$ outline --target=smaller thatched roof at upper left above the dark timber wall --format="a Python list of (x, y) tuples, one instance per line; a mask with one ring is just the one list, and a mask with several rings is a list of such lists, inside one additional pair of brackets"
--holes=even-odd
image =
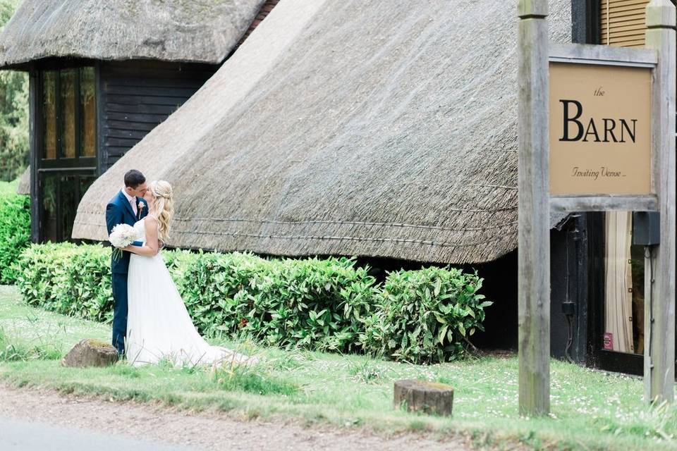
[(0, 68), (56, 57), (221, 63), (264, 0), (24, 0)]

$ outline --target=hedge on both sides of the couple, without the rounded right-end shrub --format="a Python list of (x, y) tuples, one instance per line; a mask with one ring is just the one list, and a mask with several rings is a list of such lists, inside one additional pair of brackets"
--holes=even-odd
[[(247, 333), (271, 345), (355, 350), (374, 279), (348, 259), (265, 260), (252, 254), (165, 251), (195, 326), (206, 335)], [(109, 322), (110, 249), (32, 245), (19, 259), (26, 302)]]

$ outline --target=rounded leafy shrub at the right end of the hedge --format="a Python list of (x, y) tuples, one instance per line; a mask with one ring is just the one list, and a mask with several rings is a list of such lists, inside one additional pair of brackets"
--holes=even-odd
[(466, 335), (482, 329), (482, 279), (458, 268), (389, 273), (365, 319), (368, 352), (413, 363), (444, 362), (463, 354)]

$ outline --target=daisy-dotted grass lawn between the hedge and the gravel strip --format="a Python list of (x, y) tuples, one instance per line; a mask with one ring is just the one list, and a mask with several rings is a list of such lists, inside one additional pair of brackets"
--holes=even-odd
[[(59, 357), (81, 338), (109, 340), (108, 326), (27, 307), (0, 286), (0, 381), (116, 400), (161, 402), (241, 418), (362, 427), (382, 433), (466, 433), (475, 445), (534, 449), (675, 450), (677, 408), (649, 408), (642, 381), (553, 360), (549, 418), (520, 418), (517, 357), (482, 357), (433, 366), (355, 355), (256, 349), (252, 369), (210, 371), (169, 366), (65, 369)], [(219, 343), (246, 348), (248, 343)], [(0, 354), (1, 355), (1, 354)], [(423, 378), (455, 388), (453, 418), (392, 408), (393, 381)]]

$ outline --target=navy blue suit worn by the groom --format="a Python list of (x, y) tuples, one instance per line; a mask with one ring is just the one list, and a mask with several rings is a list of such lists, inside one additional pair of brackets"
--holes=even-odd
[[(143, 208), (138, 208), (141, 202)], [(106, 205), (106, 228), (108, 234), (118, 224), (128, 224), (133, 226), (136, 221), (139, 221), (148, 214), (148, 205), (142, 197), (137, 197), (135, 200), (137, 204), (138, 214), (134, 214), (131, 204), (123, 194), (122, 190), (110, 200)], [(136, 242), (136, 245), (140, 243)], [(125, 352), (125, 337), (127, 335), (127, 271), (129, 268), (130, 252), (123, 251), (122, 257), (119, 260), (114, 260), (111, 257), (111, 273), (113, 285), (113, 346), (117, 348), (119, 354)]]

